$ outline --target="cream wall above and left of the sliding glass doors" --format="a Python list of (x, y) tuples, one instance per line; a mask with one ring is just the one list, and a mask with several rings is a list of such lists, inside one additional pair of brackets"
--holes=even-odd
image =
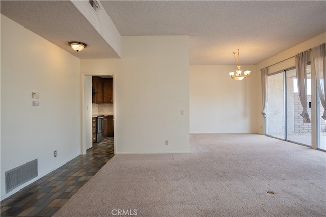
[[(261, 94), (261, 73), (260, 69), (276, 64), (280, 61), (288, 60), (280, 62), (274, 66), (268, 67), (267, 71), (268, 74), (278, 72), (284, 69), (288, 69), (291, 67), (295, 67), (295, 58), (293, 56), (297, 55), (297, 53), (301, 53), (305, 50), (308, 50), (310, 48), (313, 48), (315, 46), (318, 46), (322, 43), (326, 42), (326, 33), (322, 33), (318, 36), (315, 36), (312, 39), (309, 39), (303, 43), (300, 43), (298, 45), (295, 45), (294, 47), (291, 47), (290, 49), (284, 50), (283, 52), (278, 53), (278, 55), (275, 55), (273, 57), (270, 57), (256, 65), (256, 71), (257, 71), (257, 85), (256, 85), (256, 91), (258, 93), (257, 95), (257, 133), (264, 134), (265, 133), (265, 119), (264, 117), (260, 114), (262, 110), (262, 94)], [(310, 55), (308, 55), (310, 57)], [(291, 58), (293, 57), (293, 58)], [(308, 59), (309, 59), (308, 57)], [(314, 78), (314, 77), (313, 77)], [(314, 83), (314, 82), (312, 82)], [(314, 103), (312, 103), (314, 104)], [(268, 115), (268, 114), (267, 114)]]

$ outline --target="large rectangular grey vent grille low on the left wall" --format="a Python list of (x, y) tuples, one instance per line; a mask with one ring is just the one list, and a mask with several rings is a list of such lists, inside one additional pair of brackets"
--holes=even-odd
[(37, 159), (5, 172), (6, 193), (37, 177)]

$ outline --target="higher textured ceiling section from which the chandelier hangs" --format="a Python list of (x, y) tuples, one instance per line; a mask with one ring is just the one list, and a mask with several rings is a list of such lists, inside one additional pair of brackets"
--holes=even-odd
[(256, 64), (326, 32), (325, 1), (101, 1), (122, 36), (189, 35), (192, 65)]

